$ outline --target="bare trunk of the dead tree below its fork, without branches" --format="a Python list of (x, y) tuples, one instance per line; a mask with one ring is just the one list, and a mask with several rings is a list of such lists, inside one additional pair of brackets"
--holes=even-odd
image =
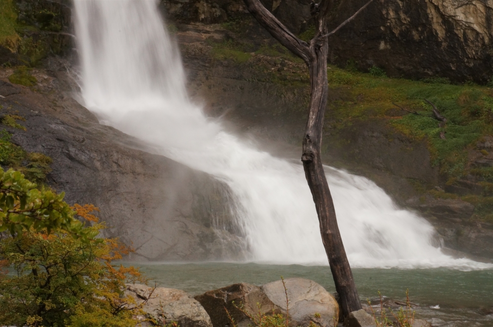
[(313, 201), (317, 209), (320, 234), (322, 236), (325, 253), (329, 260), (330, 270), (334, 278), (339, 302), (343, 315), (361, 309), (351, 267), (344, 249), (336, 212), (329, 185), (323, 171), (320, 148), (322, 143), (322, 129), (325, 107), (327, 105), (327, 37), (323, 37), (315, 46), (314, 56), (310, 60), (310, 84), (312, 96), (310, 111), (303, 138), (303, 167), (305, 176), (312, 191)]

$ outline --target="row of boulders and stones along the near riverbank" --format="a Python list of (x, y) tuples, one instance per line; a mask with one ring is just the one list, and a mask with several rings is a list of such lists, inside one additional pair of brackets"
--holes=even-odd
[[(260, 319), (271, 319), (270, 326), (284, 326), (286, 316), (293, 327), (373, 327), (373, 313), (380, 315), (380, 303), (340, 316), (336, 298), (314, 281), (289, 278), (255, 286), (246, 283), (226, 286), (192, 297), (180, 290), (127, 285), (127, 294), (142, 305), (150, 319), (140, 326), (164, 326), (176, 322), (180, 327), (258, 326)], [(406, 307), (406, 303), (387, 300), (385, 308)], [(415, 304), (412, 304), (416, 306)], [(234, 324), (234, 325), (233, 325)], [(431, 327), (425, 320), (412, 319), (412, 327)]]

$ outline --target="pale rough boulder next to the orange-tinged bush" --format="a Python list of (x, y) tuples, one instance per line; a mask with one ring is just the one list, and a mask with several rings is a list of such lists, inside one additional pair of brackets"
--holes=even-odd
[(132, 295), (137, 303), (142, 303), (150, 295), (142, 310), (161, 325), (176, 321), (180, 327), (212, 327), (206, 310), (191, 295), (164, 287), (157, 287), (152, 294), (151, 291), (152, 288), (145, 285), (127, 284), (126, 293)]

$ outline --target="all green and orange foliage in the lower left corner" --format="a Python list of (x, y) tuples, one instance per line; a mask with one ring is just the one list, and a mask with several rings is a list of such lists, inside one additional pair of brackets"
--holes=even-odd
[[(131, 249), (95, 237), (105, 228), (91, 214), (97, 208), (70, 207), (63, 194), (38, 190), (13, 170), (0, 172), (0, 192), (0, 230), (11, 230), (0, 237), (2, 324), (137, 325), (141, 305), (125, 294), (125, 283), (146, 280), (134, 267), (112, 264)], [(75, 217), (92, 226), (82, 227)]]

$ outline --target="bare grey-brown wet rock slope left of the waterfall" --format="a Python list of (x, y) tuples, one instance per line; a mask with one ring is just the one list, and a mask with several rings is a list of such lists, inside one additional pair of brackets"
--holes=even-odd
[(98, 216), (108, 226), (105, 236), (133, 244), (133, 259), (242, 258), (245, 240), (234, 224), (224, 183), (147, 153), (138, 140), (99, 125), (70, 98), (65, 73), (33, 70), (38, 93), (8, 83), (11, 73), (0, 69), (2, 113), (26, 118), (27, 130), (0, 129), (11, 132), (12, 141), (26, 151), (51, 157), (47, 183), (65, 192), (70, 204), (99, 207)]

